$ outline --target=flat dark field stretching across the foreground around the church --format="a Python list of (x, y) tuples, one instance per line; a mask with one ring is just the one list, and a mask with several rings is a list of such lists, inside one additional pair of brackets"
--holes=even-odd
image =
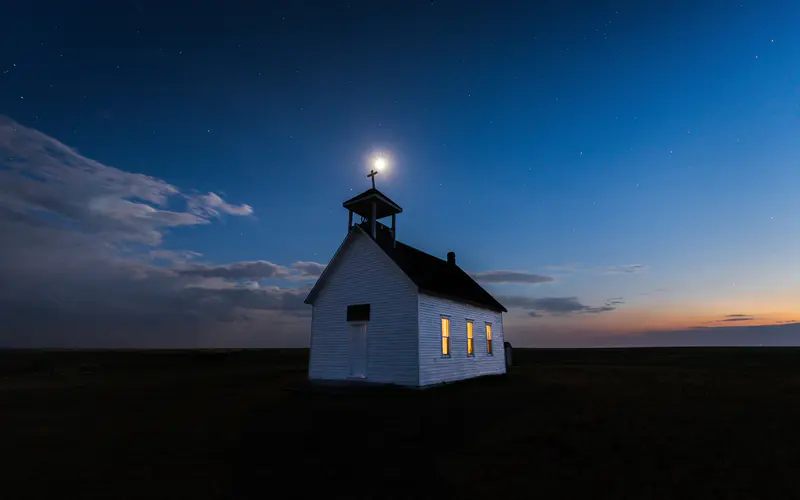
[(800, 349), (517, 349), (425, 391), (306, 357), (0, 351), (0, 496), (800, 496)]

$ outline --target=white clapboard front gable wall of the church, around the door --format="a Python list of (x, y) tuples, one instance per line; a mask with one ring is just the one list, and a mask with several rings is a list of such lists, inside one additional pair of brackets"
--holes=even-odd
[(369, 236), (352, 236), (313, 304), (309, 378), (347, 379), (347, 306), (370, 304), (367, 380), (417, 385), (416, 286)]

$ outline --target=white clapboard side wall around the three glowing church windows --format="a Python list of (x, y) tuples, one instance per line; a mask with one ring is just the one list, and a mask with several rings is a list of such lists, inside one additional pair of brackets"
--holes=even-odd
[[(442, 357), (442, 315), (450, 317), (450, 357)], [(467, 356), (467, 319), (473, 321), (474, 356)], [(486, 348), (487, 322), (492, 324), (492, 356)], [(505, 372), (501, 313), (419, 295), (419, 385)]]

